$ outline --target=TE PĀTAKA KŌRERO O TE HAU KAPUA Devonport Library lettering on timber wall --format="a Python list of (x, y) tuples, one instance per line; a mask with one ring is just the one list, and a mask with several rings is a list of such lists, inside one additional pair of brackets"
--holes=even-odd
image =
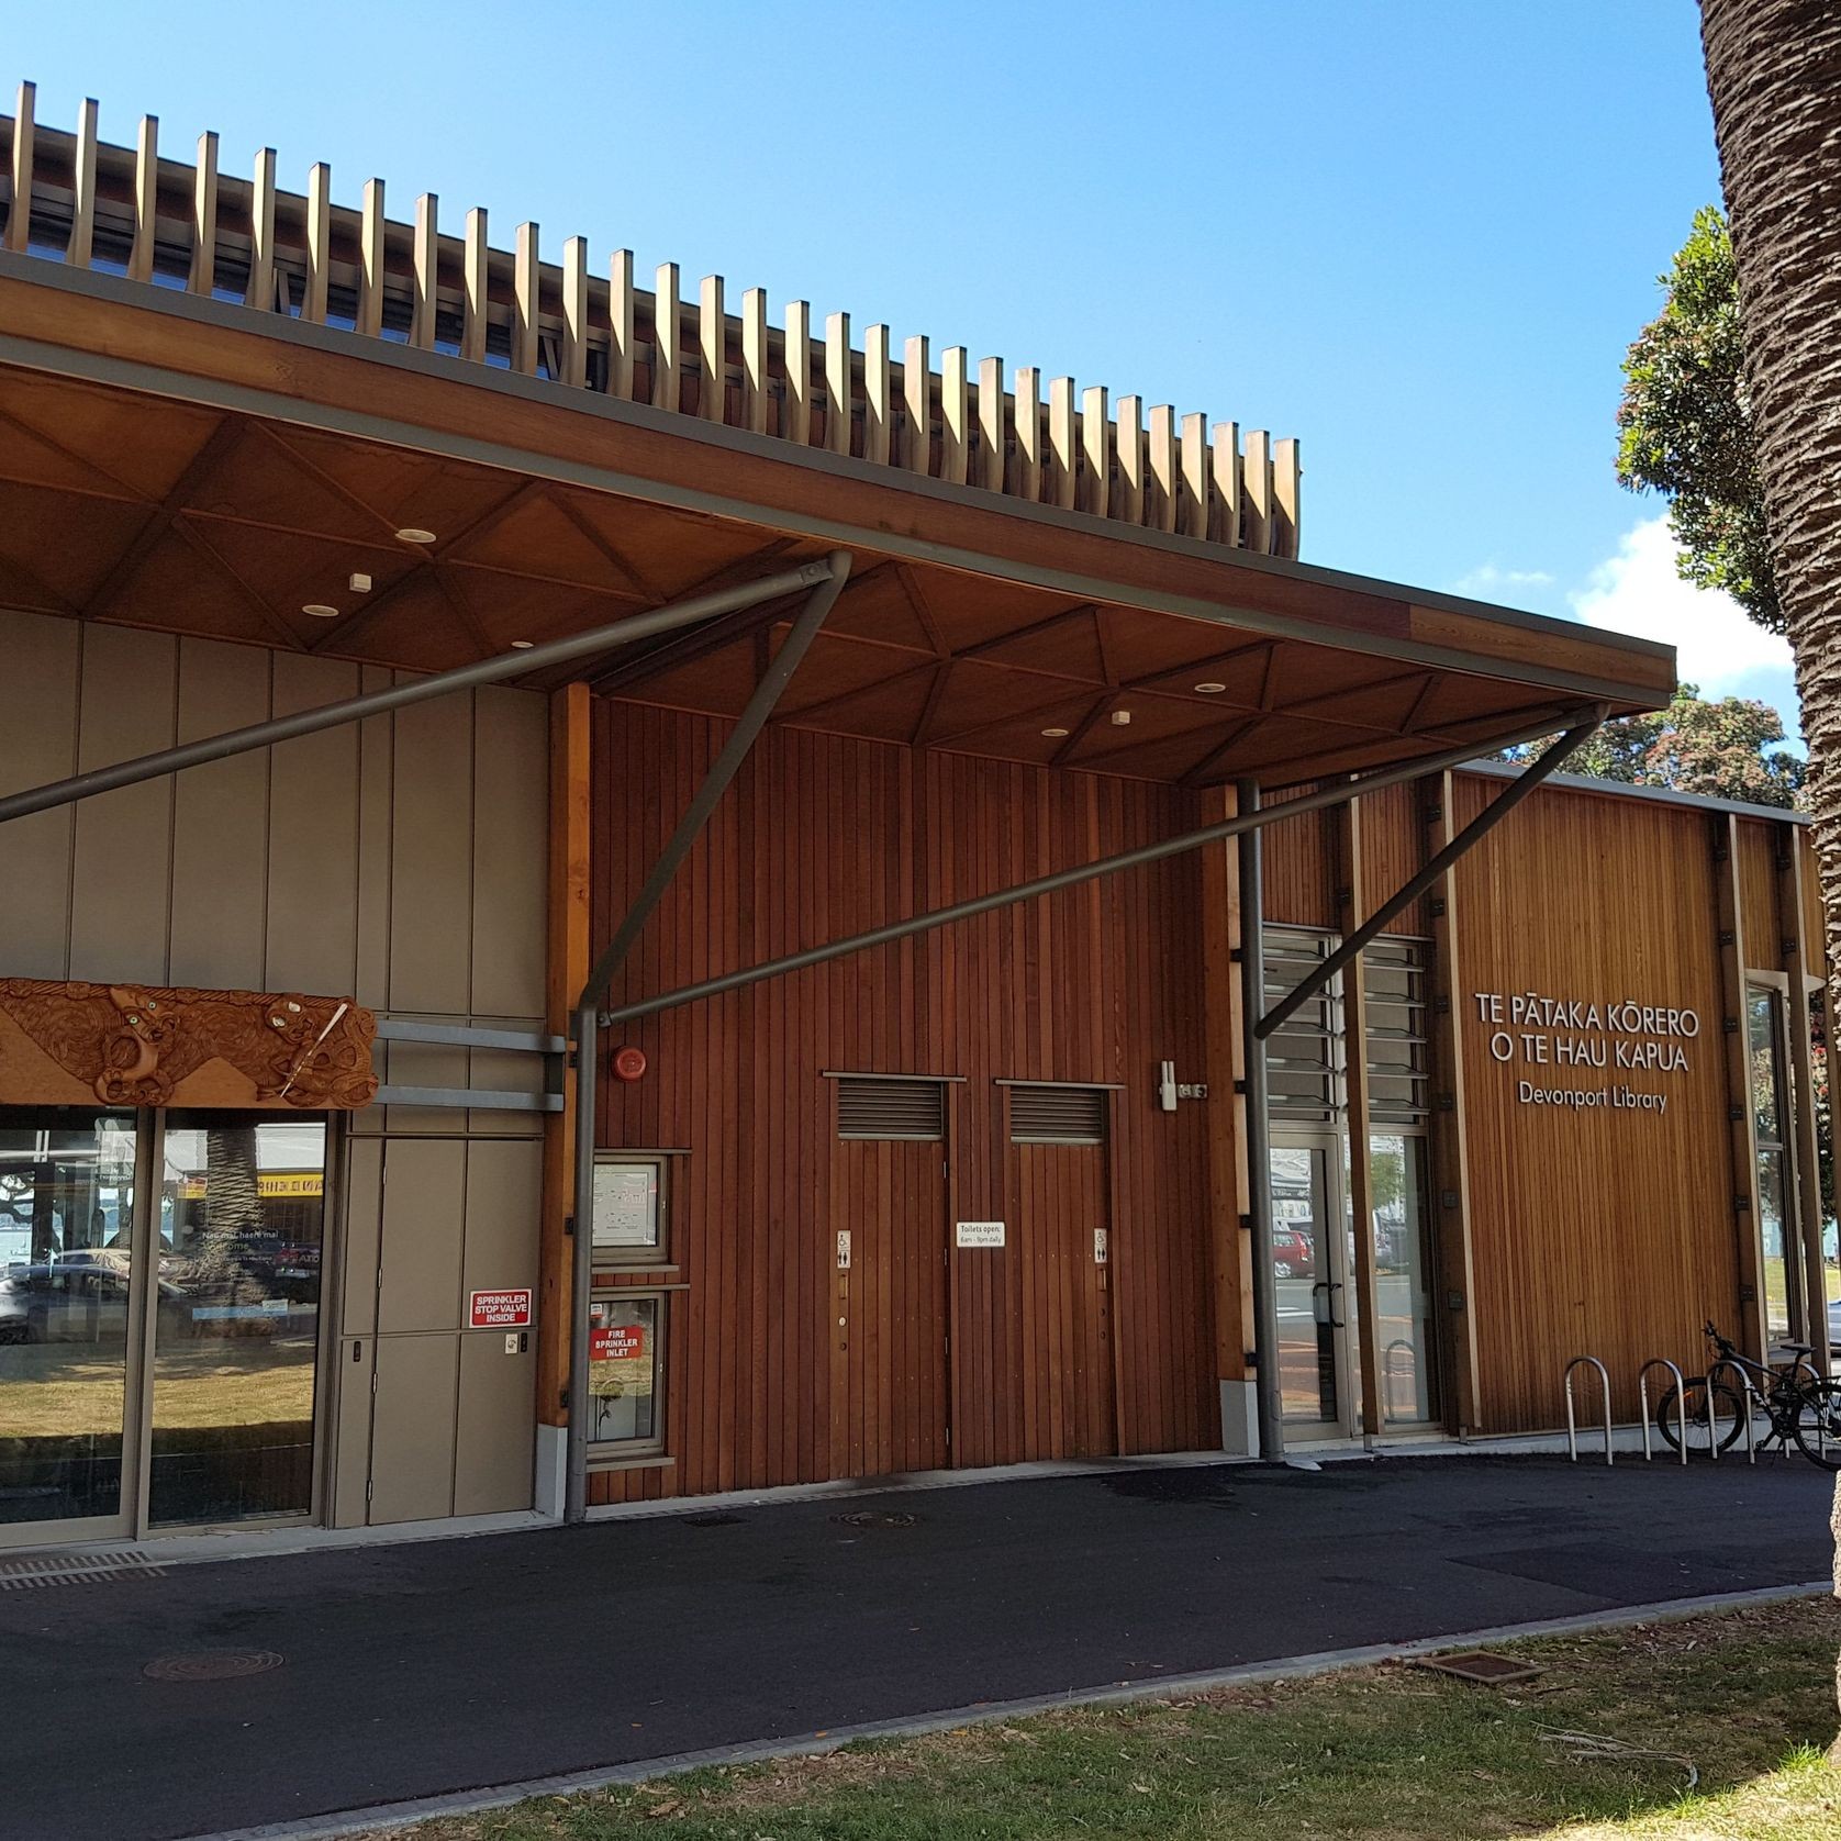
[[(1670, 1095), (1620, 1079), (1692, 1073), (1697, 1011), (1615, 998), (1550, 998), (1539, 990), (1476, 990), (1473, 1024), (1488, 1031), (1489, 1059), (1526, 1070), (1515, 1081), (1524, 1106), (1589, 1112), (1666, 1112)], [(1596, 1079), (1596, 1075), (1611, 1079)]]

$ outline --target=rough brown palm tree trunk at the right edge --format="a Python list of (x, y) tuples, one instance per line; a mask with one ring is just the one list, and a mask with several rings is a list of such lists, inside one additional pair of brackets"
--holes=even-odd
[[(1701, 48), (1841, 998), (1841, 7), (1701, 0)], [(1832, 1528), (1841, 1596), (1841, 1478)], [(1830, 1758), (1841, 1764), (1841, 1738)]]

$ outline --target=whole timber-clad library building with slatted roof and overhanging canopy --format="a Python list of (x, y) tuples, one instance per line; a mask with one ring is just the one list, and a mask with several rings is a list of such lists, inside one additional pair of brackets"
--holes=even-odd
[(1473, 764), (1668, 648), (1300, 562), (1233, 423), (0, 166), (0, 1543), (1826, 1360), (1806, 828)]

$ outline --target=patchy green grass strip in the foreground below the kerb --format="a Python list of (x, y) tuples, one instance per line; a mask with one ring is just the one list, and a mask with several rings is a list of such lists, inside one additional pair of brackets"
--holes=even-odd
[(1510, 1688), (1351, 1670), (541, 1797), (390, 1834), (1835, 1841), (1841, 1771), (1823, 1749), (1835, 1732), (1837, 1644), (1841, 1605), (1802, 1600), (1519, 1644), (1541, 1675)]

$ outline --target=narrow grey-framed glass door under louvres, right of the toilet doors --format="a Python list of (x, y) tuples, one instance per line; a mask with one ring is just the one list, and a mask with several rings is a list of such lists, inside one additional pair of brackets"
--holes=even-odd
[(1353, 1438), (1353, 1303), (1342, 1141), (1274, 1134), (1272, 1291), (1287, 1438)]

